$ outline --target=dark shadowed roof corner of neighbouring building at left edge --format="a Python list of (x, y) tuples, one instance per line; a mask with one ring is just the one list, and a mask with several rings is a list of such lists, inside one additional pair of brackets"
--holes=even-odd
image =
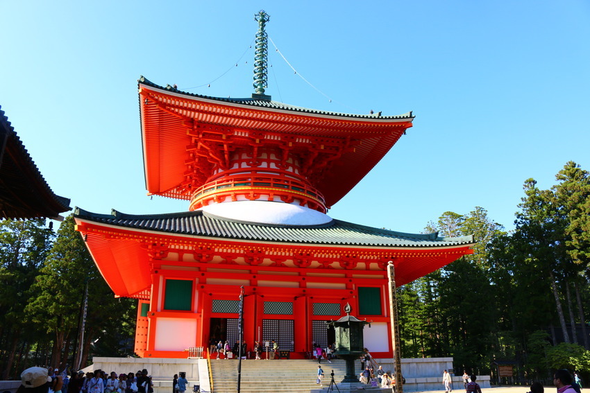
[(69, 199), (51, 191), (0, 107), (0, 211), (3, 218), (63, 220)]

